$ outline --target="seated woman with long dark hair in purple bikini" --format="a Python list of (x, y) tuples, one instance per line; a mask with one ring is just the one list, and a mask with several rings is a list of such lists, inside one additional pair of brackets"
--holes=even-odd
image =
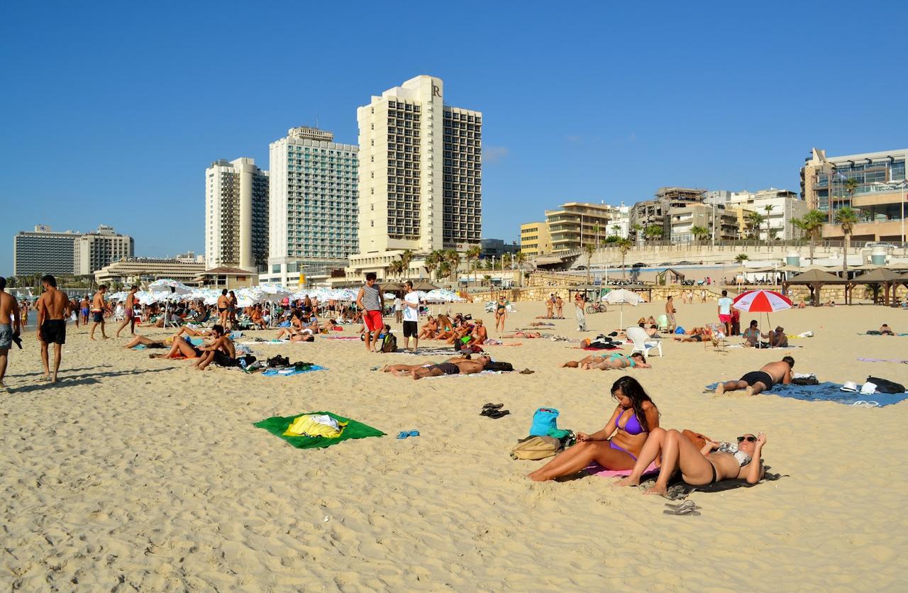
[(529, 474), (545, 481), (569, 476), (593, 461), (605, 469), (633, 469), (651, 430), (659, 427), (659, 410), (633, 377), (621, 377), (612, 385), (618, 405), (606, 428), (593, 434), (577, 433), (577, 444)]

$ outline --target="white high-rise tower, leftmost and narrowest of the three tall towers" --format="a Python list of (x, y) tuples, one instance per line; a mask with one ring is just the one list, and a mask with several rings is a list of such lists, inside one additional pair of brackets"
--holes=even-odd
[(205, 169), (205, 263), (264, 270), (268, 261), (268, 172), (250, 158)]

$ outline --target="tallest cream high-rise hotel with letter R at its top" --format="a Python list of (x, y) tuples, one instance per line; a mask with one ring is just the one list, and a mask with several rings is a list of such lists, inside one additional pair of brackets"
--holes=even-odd
[(478, 244), (482, 114), (444, 104), (441, 79), (419, 75), (373, 96), (357, 120), (360, 252), (350, 258), (349, 274), (382, 277), (404, 250)]

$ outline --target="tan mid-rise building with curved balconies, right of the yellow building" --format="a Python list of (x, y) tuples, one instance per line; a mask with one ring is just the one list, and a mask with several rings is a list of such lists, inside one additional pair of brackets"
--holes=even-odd
[(549, 242), (553, 253), (569, 252), (584, 245), (599, 245), (611, 233), (617, 218), (615, 206), (606, 203), (568, 202), (546, 211)]

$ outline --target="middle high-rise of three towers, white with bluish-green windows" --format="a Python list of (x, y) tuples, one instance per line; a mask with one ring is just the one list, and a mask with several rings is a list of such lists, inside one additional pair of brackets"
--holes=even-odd
[(260, 281), (309, 283), (357, 252), (358, 152), (310, 127), (291, 128), (270, 144), (269, 258)]

